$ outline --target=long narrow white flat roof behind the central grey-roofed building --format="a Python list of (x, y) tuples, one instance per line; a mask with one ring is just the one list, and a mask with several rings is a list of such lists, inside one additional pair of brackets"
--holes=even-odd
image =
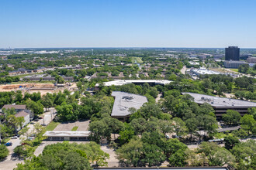
[[(106, 87), (110, 87), (112, 85), (122, 86), (128, 83), (155, 83), (155, 84), (165, 85), (165, 84), (171, 83), (171, 81), (170, 80), (113, 80), (113, 81), (104, 82), (103, 85)], [(99, 83), (95, 85), (95, 87), (98, 87), (98, 86), (99, 86)]]

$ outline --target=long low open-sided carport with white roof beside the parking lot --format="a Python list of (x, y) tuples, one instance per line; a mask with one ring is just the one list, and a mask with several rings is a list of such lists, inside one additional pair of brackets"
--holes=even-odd
[(43, 136), (49, 141), (88, 141), (91, 131), (47, 131)]

